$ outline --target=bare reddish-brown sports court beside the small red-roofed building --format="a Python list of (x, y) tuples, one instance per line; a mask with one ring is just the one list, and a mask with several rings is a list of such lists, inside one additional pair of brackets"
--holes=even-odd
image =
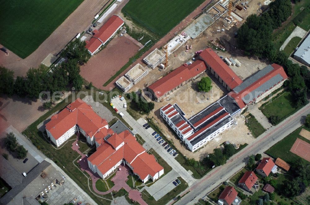
[(104, 49), (81, 66), (80, 74), (96, 88), (104, 89), (103, 84), (115, 75), (138, 50), (139, 46), (131, 39), (116, 36)]

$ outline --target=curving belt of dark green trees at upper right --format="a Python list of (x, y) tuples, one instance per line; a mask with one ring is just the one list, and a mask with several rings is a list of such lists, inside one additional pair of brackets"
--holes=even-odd
[[(291, 15), (290, 0), (275, 0), (269, 10), (261, 16), (250, 15), (238, 30), (238, 48), (246, 55), (268, 58), (285, 69), (290, 77), (286, 86), (294, 95), (296, 107), (308, 103), (307, 91), (310, 91), (310, 71), (288, 59), (283, 51), (278, 51), (272, 43), (272, 32)], [(277, 119), (272, 119), (277, 122)]]

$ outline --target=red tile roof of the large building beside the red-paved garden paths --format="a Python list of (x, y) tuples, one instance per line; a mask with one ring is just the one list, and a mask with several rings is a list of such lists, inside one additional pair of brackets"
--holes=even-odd
[[(112, 136), (117, 136), (124, 142), (124, 145), (115, 150), (108, 142)], [(136, 141), (135, 137), (128, 131), (124, 131), (118, 135), (112, 135), (108, 142), (103, 142), (90, 157), (87, 158), (91, 164), (96, 165), (102, 174), (105, 174), (113, 166), (122, 159), (125, 159), (133, 167), (133, 171), (145, 179), (148, 175), (154, 176), (157, 172), (163, 170), (163, 167), (158, 164), (153, 155), (145, 152), (145, 149)], [(118, 139), (117, 139), (118, 141)], [(111, 140), (112, 143), (115, 140)], [(115, 146), (117, 146), (117, 144)], [(121, 143), (122, 143), (121, 142)]]

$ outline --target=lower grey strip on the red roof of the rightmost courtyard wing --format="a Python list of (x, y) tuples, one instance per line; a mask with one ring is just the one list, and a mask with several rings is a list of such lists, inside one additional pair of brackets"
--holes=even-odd
[(266, 90), (270, 89), (273, 85), (279, 83), (281, 80), (283, 80), (282, 75), (277, 74), (276, 76), (272, 77), (265, 83), (263, 83), (261, 86), (259, 86), (257, 89), (253, 90), (252, 92), (245, 95), (242, 100), (246, 104), (251, 102), (253, 99), (257, 98), (260, 94), (264, 93)]

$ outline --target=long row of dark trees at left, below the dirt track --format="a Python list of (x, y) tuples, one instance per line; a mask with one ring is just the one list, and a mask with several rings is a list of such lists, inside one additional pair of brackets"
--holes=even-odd
[(80, 90), (83, 78), (80, 73), (80, 66), (86, 63), (91, 57), (85, 48), (85, 42), (80, 40), (69, 43), (62, 57), (67, 58), (66, 62), (61, 63), (47, 72), (46, 66), (30, 68), (26, 77), (17, 76), (14, 82), (14, 72), (5, 67), (0, 67), (0, 92), (8, 96), (16, 94), (20, 97), (38, 99), (42, 91), (64, 91), (69, 87)]

